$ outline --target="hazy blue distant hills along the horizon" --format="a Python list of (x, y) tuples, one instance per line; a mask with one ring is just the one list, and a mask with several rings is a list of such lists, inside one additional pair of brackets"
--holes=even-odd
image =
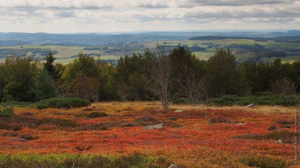
[[(24, 43), (37, 44), (56, 44), (56, 45), (80, 45), (80, 46), (100, 46), (108, 43), (119, 42), (147, 42), (156, 40), (185, 40), (185, 39), (227, 39), (234, 37), (236, 39), (264, 39), (265, 37), (275, 38), (284, 36), (300, 36), (300, 30), (290, 30), (287, 32), (268, 32), (259, 33), (251, 31), (233, 31), (233, 32), (201, 32), (201, 31), (153, 31), (143, 33), (125, 33), (125, 34), (100, 34), (100, 33), (82, 33), (82, 34), (52, 34), (52, 33), (1, 33), (0, 40), (7, 40), (0, 45), (18, 45)], [(250, 38), (251, 37), (251, 38)], [(14, 41), (11, 41), (14, 40)], [(9, 42), (10, 41), (10, 42)]]

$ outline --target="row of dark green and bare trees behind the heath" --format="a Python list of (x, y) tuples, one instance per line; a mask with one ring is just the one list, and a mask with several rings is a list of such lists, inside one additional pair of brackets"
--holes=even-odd
[(7, 57), (0, 64), (1, 101), (36, 102), (51, 97), (82, 97), (93, 102), (160, 100), (168, 108), (178, 97), (197, 104), (228, 94), (287, 94), (283, 81), (300, 82), (299, 60), (290, 64), (277, 58), (274, 64), (245, 61), (238, 65), (233, 52), (222, 48), (207, 61), (182, 46), (166, 53), (159, 44), (143, 54), (120, 57), (116, 66), (82, 53), (67, 65), (54, 64), (51, 51), (45, 60)]

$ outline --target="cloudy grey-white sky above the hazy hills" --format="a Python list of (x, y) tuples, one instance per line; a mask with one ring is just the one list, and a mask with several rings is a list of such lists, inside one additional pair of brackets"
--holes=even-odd
[(300, 29), (300, 0), (0, 0), (0, 32)]

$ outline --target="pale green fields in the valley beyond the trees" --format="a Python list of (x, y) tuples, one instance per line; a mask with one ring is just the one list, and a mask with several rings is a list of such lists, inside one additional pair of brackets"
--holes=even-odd
[[(273, 51), (282, 51), (287, 48), (289, 49), (300, 49), (300, 43), (294, 43), (294, 42), (274, 42), (274, 41), (268, 41), (268, 42), (258, 42), (254, 41), (252, 39), (218, 39), (218, 40), (171, 40), (171, 41), (158, 41), (160, 44), (165, 44), (166, 49), (172, 49), (167, 48), (168, 45), (176, 46), (176, 45), (188, 45), (188, 47), (192, 47), (193, 45), (198, 45), (199, 47), (205, 47), (207, 48), (208, 45), (203, 45), (201, 43), (212, 43), (214, 45), (220, 45), (221, 47), (226, 48), (226, 46), (231, 44), (238, 44), (238, 45), (250, 45), (253, 46), (255, 43), (259, 45), (264, 45), (265, 49), (270, 49)], [(120, 56), (124, 55), (132, 55), (133, 52), (139, 52), (143, 53), (144, 48), (149, 48), (150, 50), (153, 50), (156, 47), (156, 41), (150, 41), (150, 42), (139, 42), (138, 45), (144, 45), (143, 48), (134, 48), (134, 44), (130, 43), (123, 43), (123, 46), (126, 46), (127, 49), (130, 49), (132, 51), (130, 52), (113, 52), (113, 53), (105, 53), (105, 50), (83, 50), (84, 47), (82, 46), (63, 46), (63, 45), (40, 45), (40, 44), (25, 44), (25, 45), (15, 45), (15, 46), (2, 46), (1, 49), (49, 49), (49, 50), (55, 50), (58, 53), (55, 54), (55, 57), (58, 58), (55, 60), (55, 62), (61, 62), (64, 64), (69, 63), (74, 58), (71, 58), (73, 55), (78, 55), (79, 52), (82, 52), (83, 54), (99, 54), (101, 55), (101, 59), (119, 59)], [(23, 46), (23, 48), (21, 48)], [(121, 46), (122, 47), (122, 46)], [(109, 49), (121, 49), (121, 47), (110, 47)], [(124, 48), (124, 47), (123, 47)], [(241, 48), (230, 48), (234, 51), (236, 57), (238, 60), (242, 61), (246, 58), (252, 58), (253, 52), (249, 52), (248, 49), (241, 49)], [(215, 53), (216, 48), (207, 48), (205, 51), (196, 51), (193, 52), (198, 58), (203, 60), (208, 60), (210, 56), (212, 56)], [(31, 55), (32, 52), (27, 52), (27, 55)], [(299, 54), (300, 55), (300, 54)], [(289, 61), (292, 63), (294, 60), (300, 60), (300, 56), (286, 56), (282, 57), (283, 62)], [(40, 57), (41, 55), (37, 54), (35, 57)], [(270, 57), (267, 60), (274, 60), (276, 57)], [(3, 62), (5, 58), (0, 58), (0, 62)]]

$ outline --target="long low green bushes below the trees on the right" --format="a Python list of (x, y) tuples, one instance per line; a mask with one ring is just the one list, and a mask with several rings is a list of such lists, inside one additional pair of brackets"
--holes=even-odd
[(281, 106), (295, 106), (293, 97), (286, 96), (263, 96), (263, 97), (239, 97), (237, 95), (225, 95), (219, 98), (211, 98), (209, 102), (216, 106), (231, 106), (241, 105), (246, 106), (249, 104), (256, 105), (281, 105)]

